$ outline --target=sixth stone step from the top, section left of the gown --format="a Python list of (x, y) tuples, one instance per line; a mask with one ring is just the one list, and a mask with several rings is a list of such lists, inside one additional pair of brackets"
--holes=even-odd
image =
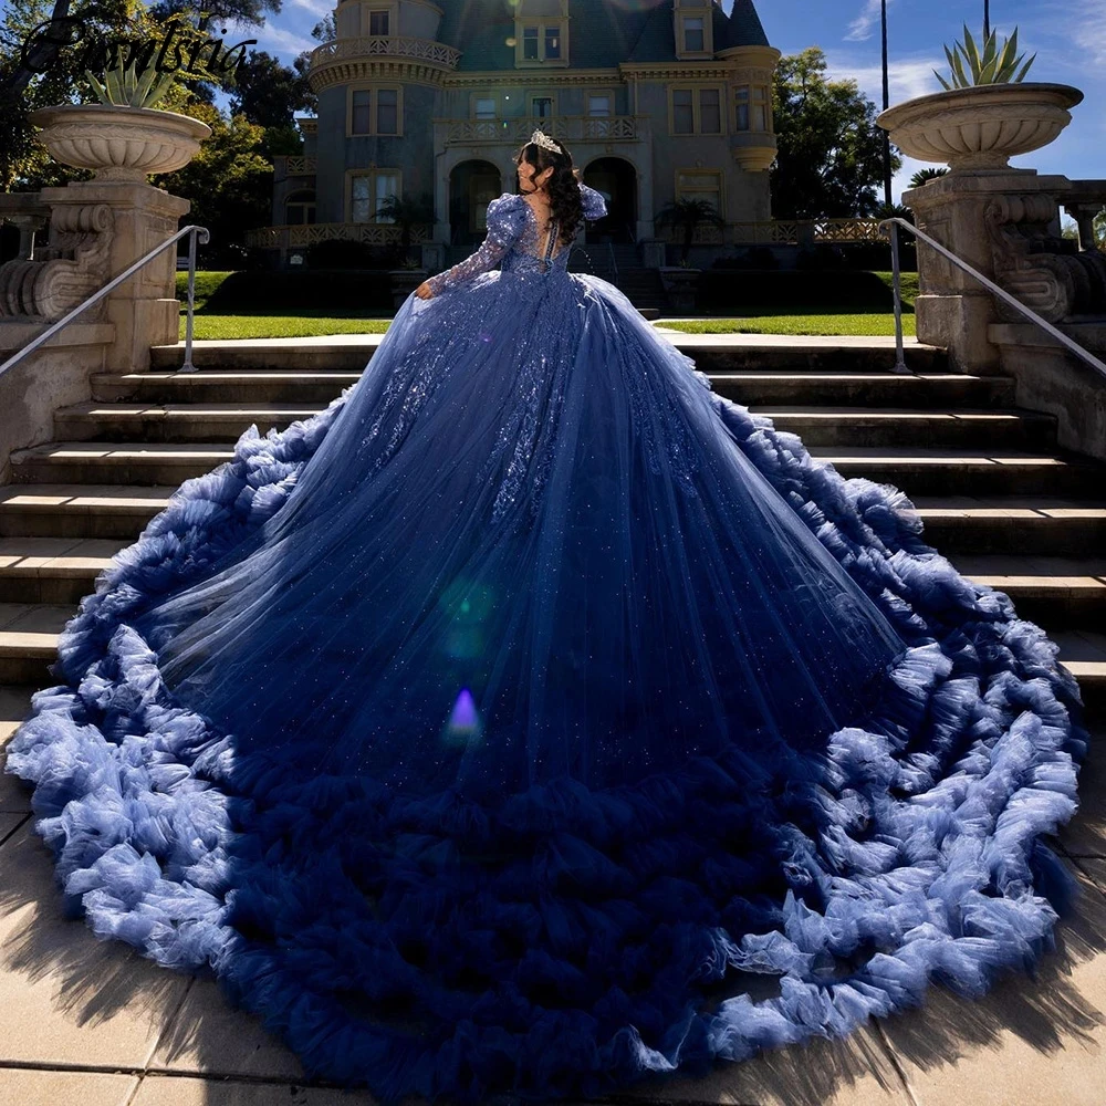
[(80, 603), (123, 539), (0, 539), (0, 603)]

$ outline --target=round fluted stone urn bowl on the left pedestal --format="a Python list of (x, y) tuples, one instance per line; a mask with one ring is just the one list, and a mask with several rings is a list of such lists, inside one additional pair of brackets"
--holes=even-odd
[(150, 173), (173, 173), (199, 152), (211, 128), (176, 112), (111, 104), (59, 104), (29, 118), (39, 140), (62, 165), (94, 169), (97, 180), (145, 181)]

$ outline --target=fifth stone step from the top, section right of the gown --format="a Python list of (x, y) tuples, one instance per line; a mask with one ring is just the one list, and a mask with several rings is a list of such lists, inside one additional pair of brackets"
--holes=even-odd
[(1094, 557), (1106, 549), (1106, 501), (1036, 497), (915, 497), (925, 539), (949, 556), (1003, 553)]

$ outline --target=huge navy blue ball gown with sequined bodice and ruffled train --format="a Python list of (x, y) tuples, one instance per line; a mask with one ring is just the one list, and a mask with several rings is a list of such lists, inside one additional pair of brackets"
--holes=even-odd
[(388, 1099), (602, 1094), (1031, 963), (1055, 646), (521, 197), (488, 225), (69, 625), (8, 758), (69, 904)]

